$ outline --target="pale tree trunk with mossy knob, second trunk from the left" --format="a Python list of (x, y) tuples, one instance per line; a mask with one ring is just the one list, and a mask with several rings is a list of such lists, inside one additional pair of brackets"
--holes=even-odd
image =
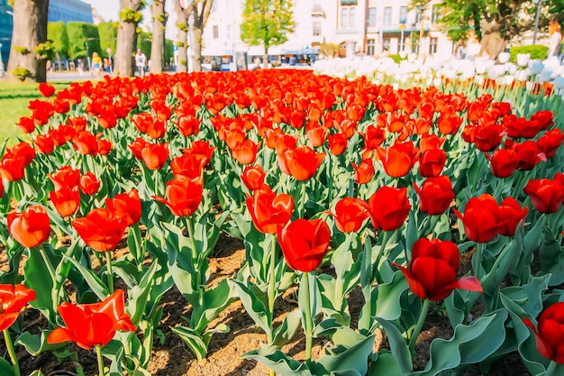
[[(115, 68), (118, 76), (132, 77), (135, 72), (135, 48), (137, 46), (138, 19), (126, 14), (141, 12), (142, 0), (120, 0), (120, 23), (117, 28), (117, 45), (115, 47)], [(129, 10), (126, 12), (126, 10)], [(132, 12), (131, 12), (132, 11)]]

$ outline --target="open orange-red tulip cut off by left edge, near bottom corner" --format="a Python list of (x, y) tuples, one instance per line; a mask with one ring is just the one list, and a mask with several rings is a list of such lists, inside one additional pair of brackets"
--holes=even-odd
[(22, 284), (0, 285), (0, 331), (15, 323), (23, 307), (35, 300), (35, 291)]

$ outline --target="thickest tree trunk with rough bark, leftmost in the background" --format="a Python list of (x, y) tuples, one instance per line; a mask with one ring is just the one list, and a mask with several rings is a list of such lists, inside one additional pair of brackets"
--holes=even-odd
[(48, 9), (49, 0), (14, 1), (14, 33), (7, 69), (9, 79), (46, 81), (46, 61), (35, 53), (35, 49), (47, 41)]

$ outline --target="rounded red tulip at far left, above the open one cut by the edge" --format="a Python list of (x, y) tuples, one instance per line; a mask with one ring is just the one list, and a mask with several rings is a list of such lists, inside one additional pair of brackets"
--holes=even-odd
[(23, 213), (8, 215), (8, 231), (24, 247), (35, 247), (49, 239), (49, 216), (43, 206), (28, 206)]

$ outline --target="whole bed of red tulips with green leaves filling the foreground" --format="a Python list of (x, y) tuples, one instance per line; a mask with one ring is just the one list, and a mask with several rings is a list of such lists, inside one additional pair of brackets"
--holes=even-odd
[[(0, 282), (25, 291), (11, 314), (29, 301), (48, 321), (15, 344), (62, 359), (74, 341), (96, 349), (101, 375), (148, 374), (160, 300), (176, 286), (191, 311), (170, 330), (196, 359), (228, 330), (209, 324), (241, 299), (266, 335), (241, 356), (279, 374), (438, 374), (509, 352), (532, 374), (562, 371), (559, 98), (520, 91), (510, 104), (507, 92), (461, 88), (292, 70), (42, 84), (46, 98), (19, 122), (29, 142), (0, 160)], [(246, 260), (210, 283), (222, 232)], [(298, 309), (275, 325), (295, 285)], [(414, 370), (430, 309), (454, 335)], [(11, 355), (16, 322), (4, 328)], [(280, 350), (300, 325), (305, 362)], [(376, 330), (390, 347), (373, 353)], [(331, 345), (313, 359), (321, 337)], [(6, 374), (12, 362), (0, 362)]]

